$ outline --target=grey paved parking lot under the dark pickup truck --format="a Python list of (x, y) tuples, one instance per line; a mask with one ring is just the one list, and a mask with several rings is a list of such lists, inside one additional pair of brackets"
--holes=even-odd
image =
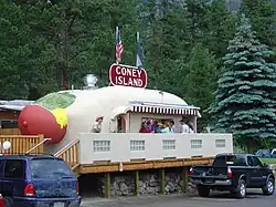
[[(269, 199), (267, 199), (269, 198)], [(82, 207), (261, 207), (275, 206), (276, 194), (266, 197), (250, 190), (247, 198), (236, 199), (229, 194), (214, 193), (209, 198), (187, 195), (118, 197), (112, 199), (84, 198)]]

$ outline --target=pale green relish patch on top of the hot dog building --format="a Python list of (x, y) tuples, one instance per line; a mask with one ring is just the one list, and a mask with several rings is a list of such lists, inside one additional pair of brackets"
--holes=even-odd
[(66, 108), (75, 102), (75, 95), (67, 92), (50, 93), (36, 100), (33, 104), (42, 105), (47, 110), (55, 110), (57, 107)]

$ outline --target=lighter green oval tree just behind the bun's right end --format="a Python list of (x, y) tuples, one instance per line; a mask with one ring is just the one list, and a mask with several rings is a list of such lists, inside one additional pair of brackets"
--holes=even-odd
[(182, 90), (185, 94), (188, 103), (199, 106), (202, 111), (202, 118), (199, 120), (199, 131), (206, 126), (210, 118), (204, 111), (212, 103), (213, 92), (217, 81), (217, 60), (202, 44), (195, 44), (190, 60), (185, 64), (185, 75), (182, 81)]

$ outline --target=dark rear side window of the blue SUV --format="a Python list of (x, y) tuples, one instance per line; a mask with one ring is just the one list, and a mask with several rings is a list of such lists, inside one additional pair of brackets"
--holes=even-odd
[(24, 178), (24, 162), (21, 159), (6, 161), (4, 177)]

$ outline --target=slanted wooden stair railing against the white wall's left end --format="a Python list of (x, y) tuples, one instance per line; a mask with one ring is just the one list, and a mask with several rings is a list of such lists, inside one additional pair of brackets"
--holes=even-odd
[(74, 170), (79, 166), (79, 139), (75, 139), (54, 154), (54, 156), (65, 161), (68, 166)]

